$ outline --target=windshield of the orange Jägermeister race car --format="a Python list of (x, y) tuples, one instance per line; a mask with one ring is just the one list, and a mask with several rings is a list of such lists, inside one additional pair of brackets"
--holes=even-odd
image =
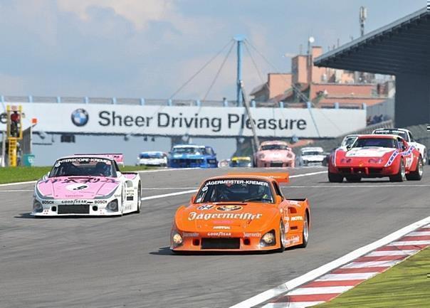
[(267, 181), (253, 179), (219, 179), (206, 181), (196, 196), (196, 203), (204, 202), (262, 202), (273, 203)]

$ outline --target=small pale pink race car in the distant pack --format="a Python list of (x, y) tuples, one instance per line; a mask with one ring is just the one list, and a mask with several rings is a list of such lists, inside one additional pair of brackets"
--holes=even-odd
[(287, 142), (266, 141), (260, 144), (253, 161), (256, 167), (294, 167), (295, 154)]

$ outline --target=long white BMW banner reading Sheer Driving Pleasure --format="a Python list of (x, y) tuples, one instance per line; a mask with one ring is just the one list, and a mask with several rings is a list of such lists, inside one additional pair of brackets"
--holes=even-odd
[[(15, 104), (18, 105), (18, 104)], [(172, 107), (21, 103), (23, 127), (35, 132), (208, 137), (252, 136), (243, 107)], [(6, 106), (3, 111), (6, 112)], [(366, 126), (365, 110), (251, 108), (260, 137), (337, 137)], [(0, 129), (6, 129), (6, 115)]]

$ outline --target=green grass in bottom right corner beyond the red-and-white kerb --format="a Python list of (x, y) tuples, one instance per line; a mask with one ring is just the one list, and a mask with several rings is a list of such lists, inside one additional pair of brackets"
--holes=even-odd
[[(427, 277), (429, 275), (429, 277)], [(315, 308), (430, 307), (430, 248)]]

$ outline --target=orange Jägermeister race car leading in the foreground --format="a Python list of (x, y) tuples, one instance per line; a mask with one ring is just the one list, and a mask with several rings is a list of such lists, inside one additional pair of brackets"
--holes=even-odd
[(283, 251), (306, 247), (308, 199), (288, 199), (279, 183), (288, 174), (228, 174), (201, 184), (189, 206), (174, 216), (170, 249), (186, 251)]

